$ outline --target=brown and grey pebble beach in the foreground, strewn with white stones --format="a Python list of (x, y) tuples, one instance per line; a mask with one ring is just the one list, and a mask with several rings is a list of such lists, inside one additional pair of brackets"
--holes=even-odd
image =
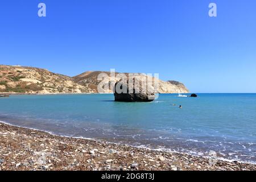
[(3, 122), (0, 143), (0, 170), (256, 170), (251, 163), (61, 137)]

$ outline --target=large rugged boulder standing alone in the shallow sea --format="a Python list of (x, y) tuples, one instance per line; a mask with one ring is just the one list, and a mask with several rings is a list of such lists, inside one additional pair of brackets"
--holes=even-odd
[(119, 80), (114, 86), (115, 101), (118, 102), (151, 102), (155, 100), (155, 88), (151, 84), (147, 85), (141, 77), (133, 78), (133, 81)]

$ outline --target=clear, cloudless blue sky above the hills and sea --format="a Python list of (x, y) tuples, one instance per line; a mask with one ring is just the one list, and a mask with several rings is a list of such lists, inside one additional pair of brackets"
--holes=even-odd
[(255, 9), (255, 0), (3, 0), (0, 64), (68, 76), (115, 68), (191, 92), (256, 93)]

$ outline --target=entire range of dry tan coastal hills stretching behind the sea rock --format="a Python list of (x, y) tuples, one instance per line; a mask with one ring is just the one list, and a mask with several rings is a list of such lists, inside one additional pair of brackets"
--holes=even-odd
[[(110, 78), (110, 72), (89, 71), (69, 77), (49, 72), (47, 69), (0, 65), (0, 93), (97, 93), (98, 84), (101, 82), (97, 80), (100, 73), (105, 73)], [(114, 81), (119, 81), (119, 78)], [(112, 90), (108, 89), (106, 92), (112, 93)], [(159, 80), (159, 93), (188, 92), (180, 82)]]

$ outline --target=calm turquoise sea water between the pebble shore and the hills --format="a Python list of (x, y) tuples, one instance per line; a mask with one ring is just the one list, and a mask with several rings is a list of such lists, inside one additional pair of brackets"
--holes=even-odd
[(215, 151), (220, 158), (256, 162), (256, 94), (113, 100), (112, 94), (10, 96), (0, 98), (0, 121), (58, 135), (202, 156)]

